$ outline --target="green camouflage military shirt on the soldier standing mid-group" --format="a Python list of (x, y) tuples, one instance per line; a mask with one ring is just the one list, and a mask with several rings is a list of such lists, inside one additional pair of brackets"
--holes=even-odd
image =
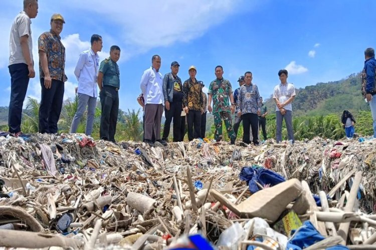
[(213, 114), (218, 112), (230, 112), (229, 97), (233, 92), (231, 83), (222, 78), (210, 83), (209, 95), (213, 95)]

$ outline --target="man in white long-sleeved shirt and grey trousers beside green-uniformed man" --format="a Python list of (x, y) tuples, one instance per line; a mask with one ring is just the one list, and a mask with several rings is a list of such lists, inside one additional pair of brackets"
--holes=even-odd
[(102, 37), (94, 34), (90, 39), (91, 48), (80, 54), (74, 74), (78, 80), (78, 107), (74, 115), (71, 133), (76, 133), (82, 115), (87, 109), (86, 135), (93, 130), (95, 107), (97, 105), (97, 76), (99, 67), (98, 52), (102, 51)]

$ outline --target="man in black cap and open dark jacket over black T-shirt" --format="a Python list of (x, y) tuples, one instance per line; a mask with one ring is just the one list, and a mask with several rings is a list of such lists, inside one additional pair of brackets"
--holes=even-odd
[(177, 76), (180, 65), (174, 61), (171, 63), (171, 72), (164, 75), (163, 78), (163, 98), (164, 98), (164, 122), (162, 140), (168, 141), (170, 124), (173, 118), (173, 141), (180, 141), (180, 124), (181, 124), (181, 80)]

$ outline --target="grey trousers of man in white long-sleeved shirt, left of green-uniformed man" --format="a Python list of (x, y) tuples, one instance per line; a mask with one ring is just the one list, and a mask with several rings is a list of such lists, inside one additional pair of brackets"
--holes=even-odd
[(87, 106), (87, 121), (86, 121), (86, 135), (91, 135), (93, 131), (93, 122), (94, 122), (94, 114), (95, 114), (95, 107), (97, 105), (97, 98), (88, 96), (85, 94), (78, 93), (78, 107), (76, 114), (74, 115), (72, 126), (71, 126), (71, 133), (76, 133), (77, 127), (81, 122), (82, 115), (85, 112)]

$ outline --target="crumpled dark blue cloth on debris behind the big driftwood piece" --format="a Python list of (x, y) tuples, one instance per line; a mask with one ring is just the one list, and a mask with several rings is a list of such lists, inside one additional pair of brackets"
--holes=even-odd
[(243, 167), (240, 171), (239, 178), (241, 180), (247, 181), (247, 184), (249, 185), (249, 190), (252, 193), (256, 193), (260, 190), (260, 188), (257, 186), (256, 181), (260, 183), (262, 186), (266, 184), (270, 184), (270, 186), (275, 186), (281, 182), (285, 181), (285, 178), (283, 178), (281, 175), (270, 171), (263, 167)]

